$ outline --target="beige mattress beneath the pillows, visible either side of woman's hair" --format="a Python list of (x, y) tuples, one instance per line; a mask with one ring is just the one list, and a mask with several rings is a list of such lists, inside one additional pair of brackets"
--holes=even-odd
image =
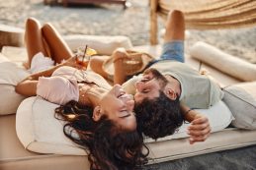
[[(19, 170), (23, 169), (23, 165), (27, 164), (26, 169), (32, 167), (32, 169), (39, 167), (42, 169), (42, 166), (45, 166), (49, 170), (52, 167), (53, 170), (54, 168), (59, 169), (58, 166), (62, 167), (61, 164), (58, 164), (62, 160), (70, 161), (70, 166), (73, 164), (73, 167), (76, 167), (79, 162), (89, 166), (86, 156), (39, 154), (26, 150), (16, 136), (15, 115), (0, 117), (0, 137), (0, 169)], [(199, 142), (193, 145), (190, 145), (187, 139), (178, 139), (149, 142), (147, 146), (150, 149), (149, 157), (151, 159), (149, 164), (152, 164), (252, 144), (256, 144), (256, 131), (225, 129), (224, 131), (213, 133), (206, 142)], [(45, 159), (51, 161), (43, 164)]]

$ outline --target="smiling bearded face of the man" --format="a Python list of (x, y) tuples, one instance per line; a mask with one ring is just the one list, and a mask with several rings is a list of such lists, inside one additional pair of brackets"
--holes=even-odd
[(143, 99), (154, 99), (159, 96), (159, 91), (167, 85), (167, 80), (155, 69), (146, 70), (143, 78), (136, 82), (134, 100), (140, 103)]

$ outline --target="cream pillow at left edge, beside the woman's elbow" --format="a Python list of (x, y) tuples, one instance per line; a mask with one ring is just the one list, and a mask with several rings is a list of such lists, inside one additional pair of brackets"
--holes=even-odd
[(29, 76), (29, 73), (0, 54), (0, 115), (16, 113), (25, 98), (15, 92), (15, 85)]

